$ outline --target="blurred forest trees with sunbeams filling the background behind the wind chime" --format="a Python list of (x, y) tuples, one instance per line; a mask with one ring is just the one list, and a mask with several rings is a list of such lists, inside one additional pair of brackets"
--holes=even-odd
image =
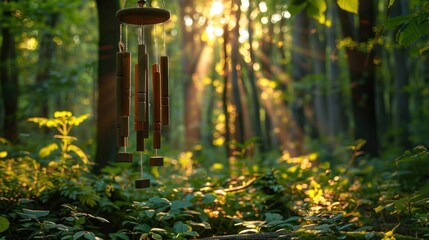
[[(114, 13), (123, 4), (1, 1), (1, 136), (37, 145), (27, 118), (90, 113), (75, 135), (100, 166), (113, 160)], [(172, 13), (146, 29), (152, 48), (165, 29), (170, 55), (167, 151), (210, 149), (234, 163), (314, 149), (329, 157), (356, 139), (372, 156), (428, 144), (426, 1), (148, 4)]]

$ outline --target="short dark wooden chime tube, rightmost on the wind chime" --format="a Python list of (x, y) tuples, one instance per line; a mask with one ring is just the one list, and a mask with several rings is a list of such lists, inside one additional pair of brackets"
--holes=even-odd
[(161, 56), (162, 125), (170, 124), (170, 98), (168, 96), (168, 56)]

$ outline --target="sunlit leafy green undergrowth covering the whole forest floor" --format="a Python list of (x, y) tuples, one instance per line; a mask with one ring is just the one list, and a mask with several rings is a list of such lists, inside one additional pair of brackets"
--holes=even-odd
[[(135, 190), (133, 181), (141, 177), (137, 161), (112, 163), (98, 176), (90, 172), (90, 159), (70, 134), (86, 118), (70, 112), (32, 118), (58, 132), (38, 152), (0, 139), (0, 237), (127, 240), (311, 232), (345, 239), (351, 231), (363, 232), (364, 239), (379, 239), (377, 231), (384, 239), (396, 233), (429, 237), (429, 155), (423, 146), (394, 161), (365, 158), (362, 142), (349, 147), (350, 159), (343, 161), (284, 152), (258, 164), (243, 153), (240, 175), (230, 175), (227, 161), (208, 161), (198, 149), (166, 157), (169, 167), (145, 173), (151, 188)], [(145, 164), (148, 157), (143, 153)]]

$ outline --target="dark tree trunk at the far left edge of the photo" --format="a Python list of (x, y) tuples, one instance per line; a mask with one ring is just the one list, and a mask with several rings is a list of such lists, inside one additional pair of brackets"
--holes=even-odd
[[(5, 11), (2, 14), (6, 17), (12, 17), (12, 13)], [(9, 28), (3, 27), (2, 45), (0, 52), (0, 81), (2, 90), (2, 100), (4, 105), (3, 112), (3, 133), (4, 137), (11, 143), (18, 142), (18, 68), (16, 64), (16, 44), (14, 34)]]

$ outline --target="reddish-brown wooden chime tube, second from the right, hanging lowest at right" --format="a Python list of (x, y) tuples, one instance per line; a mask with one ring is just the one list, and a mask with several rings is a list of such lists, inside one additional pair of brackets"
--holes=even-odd
[(161, 74), (158, 64), (152, 65), (153, 148), (161, 148)]

